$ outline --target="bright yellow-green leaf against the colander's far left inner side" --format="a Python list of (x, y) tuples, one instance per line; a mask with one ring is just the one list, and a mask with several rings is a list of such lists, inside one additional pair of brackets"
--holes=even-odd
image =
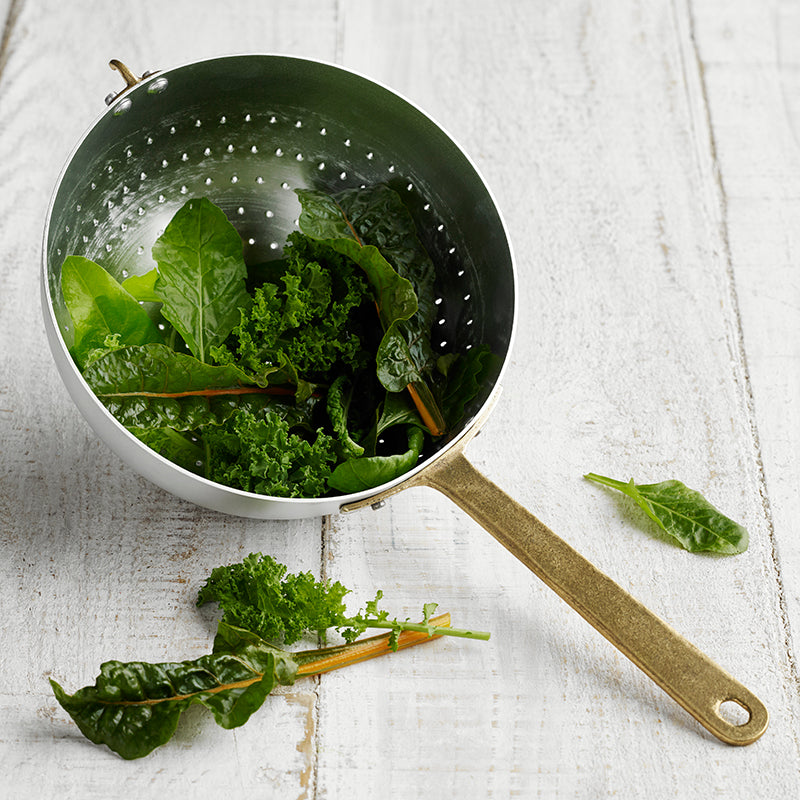
[(155, 323), (136, 298), (88, 258), (67, 256), (61, 268), (61, 291), (72, 319), (72, 355), (79, 366), (114, 334), (122, 344), (162, 341)]

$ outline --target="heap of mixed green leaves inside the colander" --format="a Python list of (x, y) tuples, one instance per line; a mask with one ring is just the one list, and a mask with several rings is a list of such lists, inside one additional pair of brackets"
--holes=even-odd
[(144, 275), (67, 257), (71, 352), (111, 413), (185, 469), (275, 497), (358, 492), (458, 424), (492, 357), (431, 346), (435, 268), (392, 189), (297, 195), (299, 231), (266, 264), (248, 268), (204, 198)]

